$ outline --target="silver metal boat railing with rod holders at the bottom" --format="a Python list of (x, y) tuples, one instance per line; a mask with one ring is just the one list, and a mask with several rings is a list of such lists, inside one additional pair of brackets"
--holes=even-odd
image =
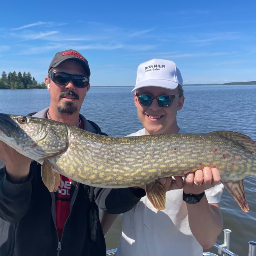
[[(218, 254), (222, 256), (239, 256), (234, 252), (230, 251), (230, 233), (232, 232), (230, 229), (224, 229), (224, 237), (223, 237), (223, 244), (214, 244), (213, 247), (218, 249)], [(256, 242), (249, 241), (249, 250), (248, 256), (256, 256)], [(114, 255), (117, 249), (112, 249), (107, 251), (107, 256)], [(218, 256), (217, 254), (211, 252), (203, 252), (204, 256)]]

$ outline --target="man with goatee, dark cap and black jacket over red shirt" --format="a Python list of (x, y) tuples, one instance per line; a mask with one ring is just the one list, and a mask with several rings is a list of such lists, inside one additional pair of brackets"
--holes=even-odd
[[(80, 53), (56, 53), (45, 77), (50, 107), (30, 115), (106, 135), (79, 114), (90, 89), (90, 74)], [(50, 193), (42, 182), (40, 164), (3, 142), (0, 157), (6, 164), (0, 169), (0, 255), (106, 255), (98, 206), (122, 213), (145, 196), (140, 188), (94, 188), (63, 175), (57, 192)]]

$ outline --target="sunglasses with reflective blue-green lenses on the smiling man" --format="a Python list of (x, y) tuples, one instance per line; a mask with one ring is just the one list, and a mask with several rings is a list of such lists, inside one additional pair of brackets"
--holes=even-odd
[(180, 97), (180, 94), (161, 94), (158, 96), (153, 96), (151, 94), (136, 92), (136, 96), (138, 97), (139, 103), (142, 106), (150, 106), (153, 100), (156, 99), (160, 107), (167, 108), (172, 105), (173, 99), (175, 99), (176, 97)]

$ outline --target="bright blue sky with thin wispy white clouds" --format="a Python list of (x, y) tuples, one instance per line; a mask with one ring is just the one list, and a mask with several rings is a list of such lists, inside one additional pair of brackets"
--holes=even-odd
[(43, 82), (74, 49), (92, 86), (133, 86), (140, 63), (172, 60), (184, 84), (256, 80), (256, 1), (3, 1), (0, 73)]

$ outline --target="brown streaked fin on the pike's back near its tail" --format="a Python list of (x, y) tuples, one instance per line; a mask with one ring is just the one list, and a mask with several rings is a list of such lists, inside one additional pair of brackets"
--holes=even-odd
[(256, 141), (252, 140), (249, 136), (244, 135), (238, 132), (229, 132), (229, 131), (215, 131), (209, 132), (218, 134), (220, 137), (227, 138), (228, 140), (232, 140), (233, 142), (241, 145), (243, 148), (247, 149), (252, 153), (256, 153)]

